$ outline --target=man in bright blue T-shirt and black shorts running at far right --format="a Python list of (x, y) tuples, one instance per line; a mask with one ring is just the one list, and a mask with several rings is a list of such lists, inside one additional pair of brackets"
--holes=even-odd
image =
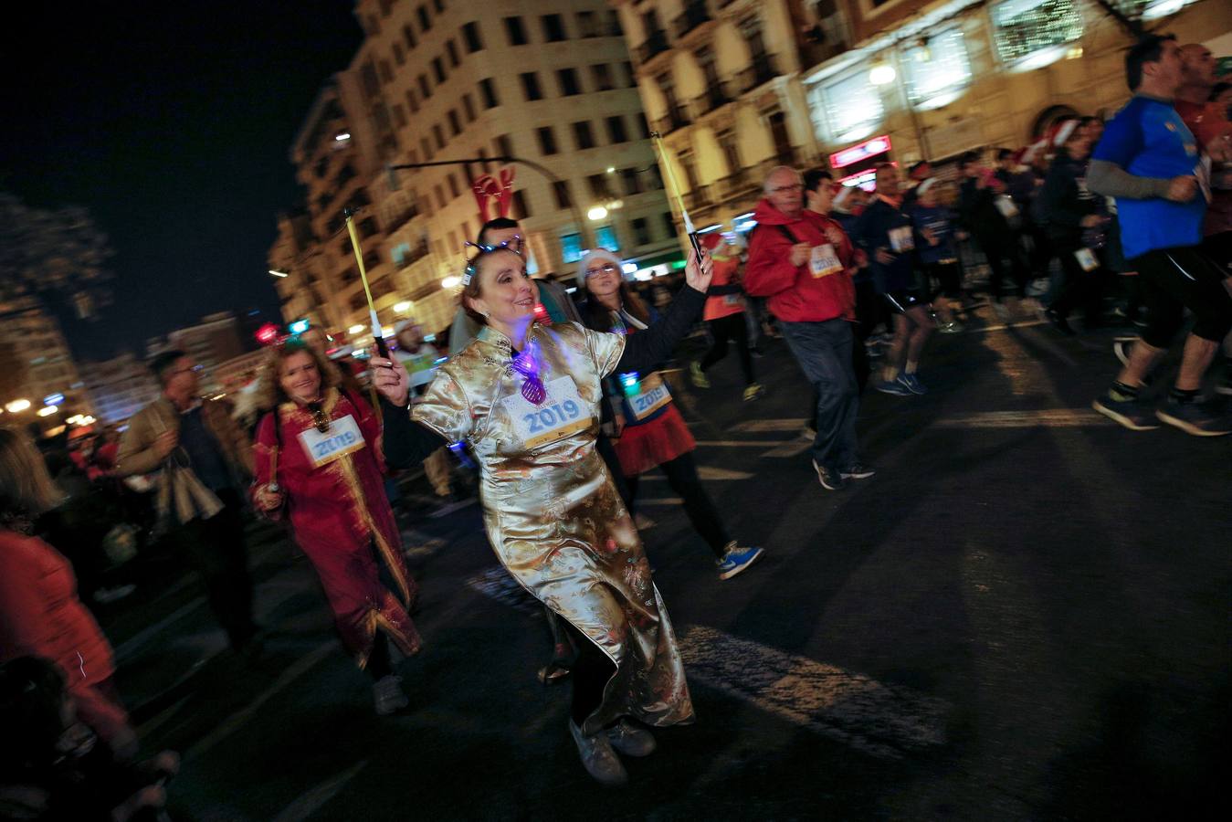
[[(1093, 407), (1135, 431), (1163, 421), (1198, 436), (1232, 434), (1232, 418), (1199, 396), (1202, 375), (1232, 328), (1232, 296), (1220, 267), (1199, 249), (1210, 184), (1199, 145), (1172, 105), (1181, 81), (1175, 37), (1140, 41), (1125, 57), (1125, 71), (1133, 99), (1108, 123), (1087, 185), (1116, 198), (1125, 258), (1142, 277), (1148, 324)], [(1138, 392), (1180, 330), (1185, 308), (1194, 313), (1194, 328), (1180, 373), (1152, 414)]]

